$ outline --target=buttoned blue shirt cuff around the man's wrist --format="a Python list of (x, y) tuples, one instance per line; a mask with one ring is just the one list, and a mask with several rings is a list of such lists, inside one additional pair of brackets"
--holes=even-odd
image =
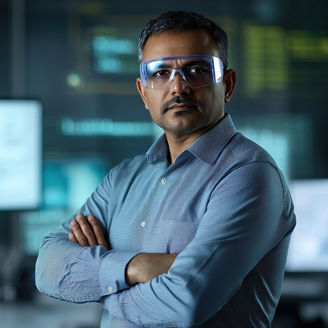
[(138, 252), (109, 251), (104, 254), (99, 268), (101, 296), (129, 288), (125, 282), (125, 268)]

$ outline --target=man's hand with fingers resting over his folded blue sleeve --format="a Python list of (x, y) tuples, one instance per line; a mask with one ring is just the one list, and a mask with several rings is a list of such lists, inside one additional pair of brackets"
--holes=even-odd
[(68, 239), (73, 243), (78, 243), (81, 246), (104, 246), (109, 250), (108, 243), (101, 229), (99, 221), (93, 215), (88, 215), (86, 218), (79, 213), (71, 222), (72, 232)]

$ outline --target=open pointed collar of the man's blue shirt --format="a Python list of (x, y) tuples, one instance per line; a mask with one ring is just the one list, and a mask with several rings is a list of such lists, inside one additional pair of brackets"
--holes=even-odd
[[(226, 114), (224, 118), (212, 129), (200, 136), (185, 151), (190, 152), (207, 164), (214, 164), (228, 141), (236, 134), (231, 116)], [(146, 153), (148, 161), (155, 163), (158, 160), (167, 160), (168, 145), (163, 134), (149, 148)]]

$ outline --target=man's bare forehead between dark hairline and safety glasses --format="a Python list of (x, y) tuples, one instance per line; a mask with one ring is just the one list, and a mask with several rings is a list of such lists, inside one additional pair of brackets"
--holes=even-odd
[(205, 30), (168, 31), (149, 37), (143, 49), (142, 61), (179, 55), (219, 57), (219, 50), (213, 37)]

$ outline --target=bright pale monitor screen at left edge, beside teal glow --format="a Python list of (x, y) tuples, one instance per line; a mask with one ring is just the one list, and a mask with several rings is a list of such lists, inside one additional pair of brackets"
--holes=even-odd
[(0, 99), (0, 210), (40, 204), (41, 110), (37, 100)]

